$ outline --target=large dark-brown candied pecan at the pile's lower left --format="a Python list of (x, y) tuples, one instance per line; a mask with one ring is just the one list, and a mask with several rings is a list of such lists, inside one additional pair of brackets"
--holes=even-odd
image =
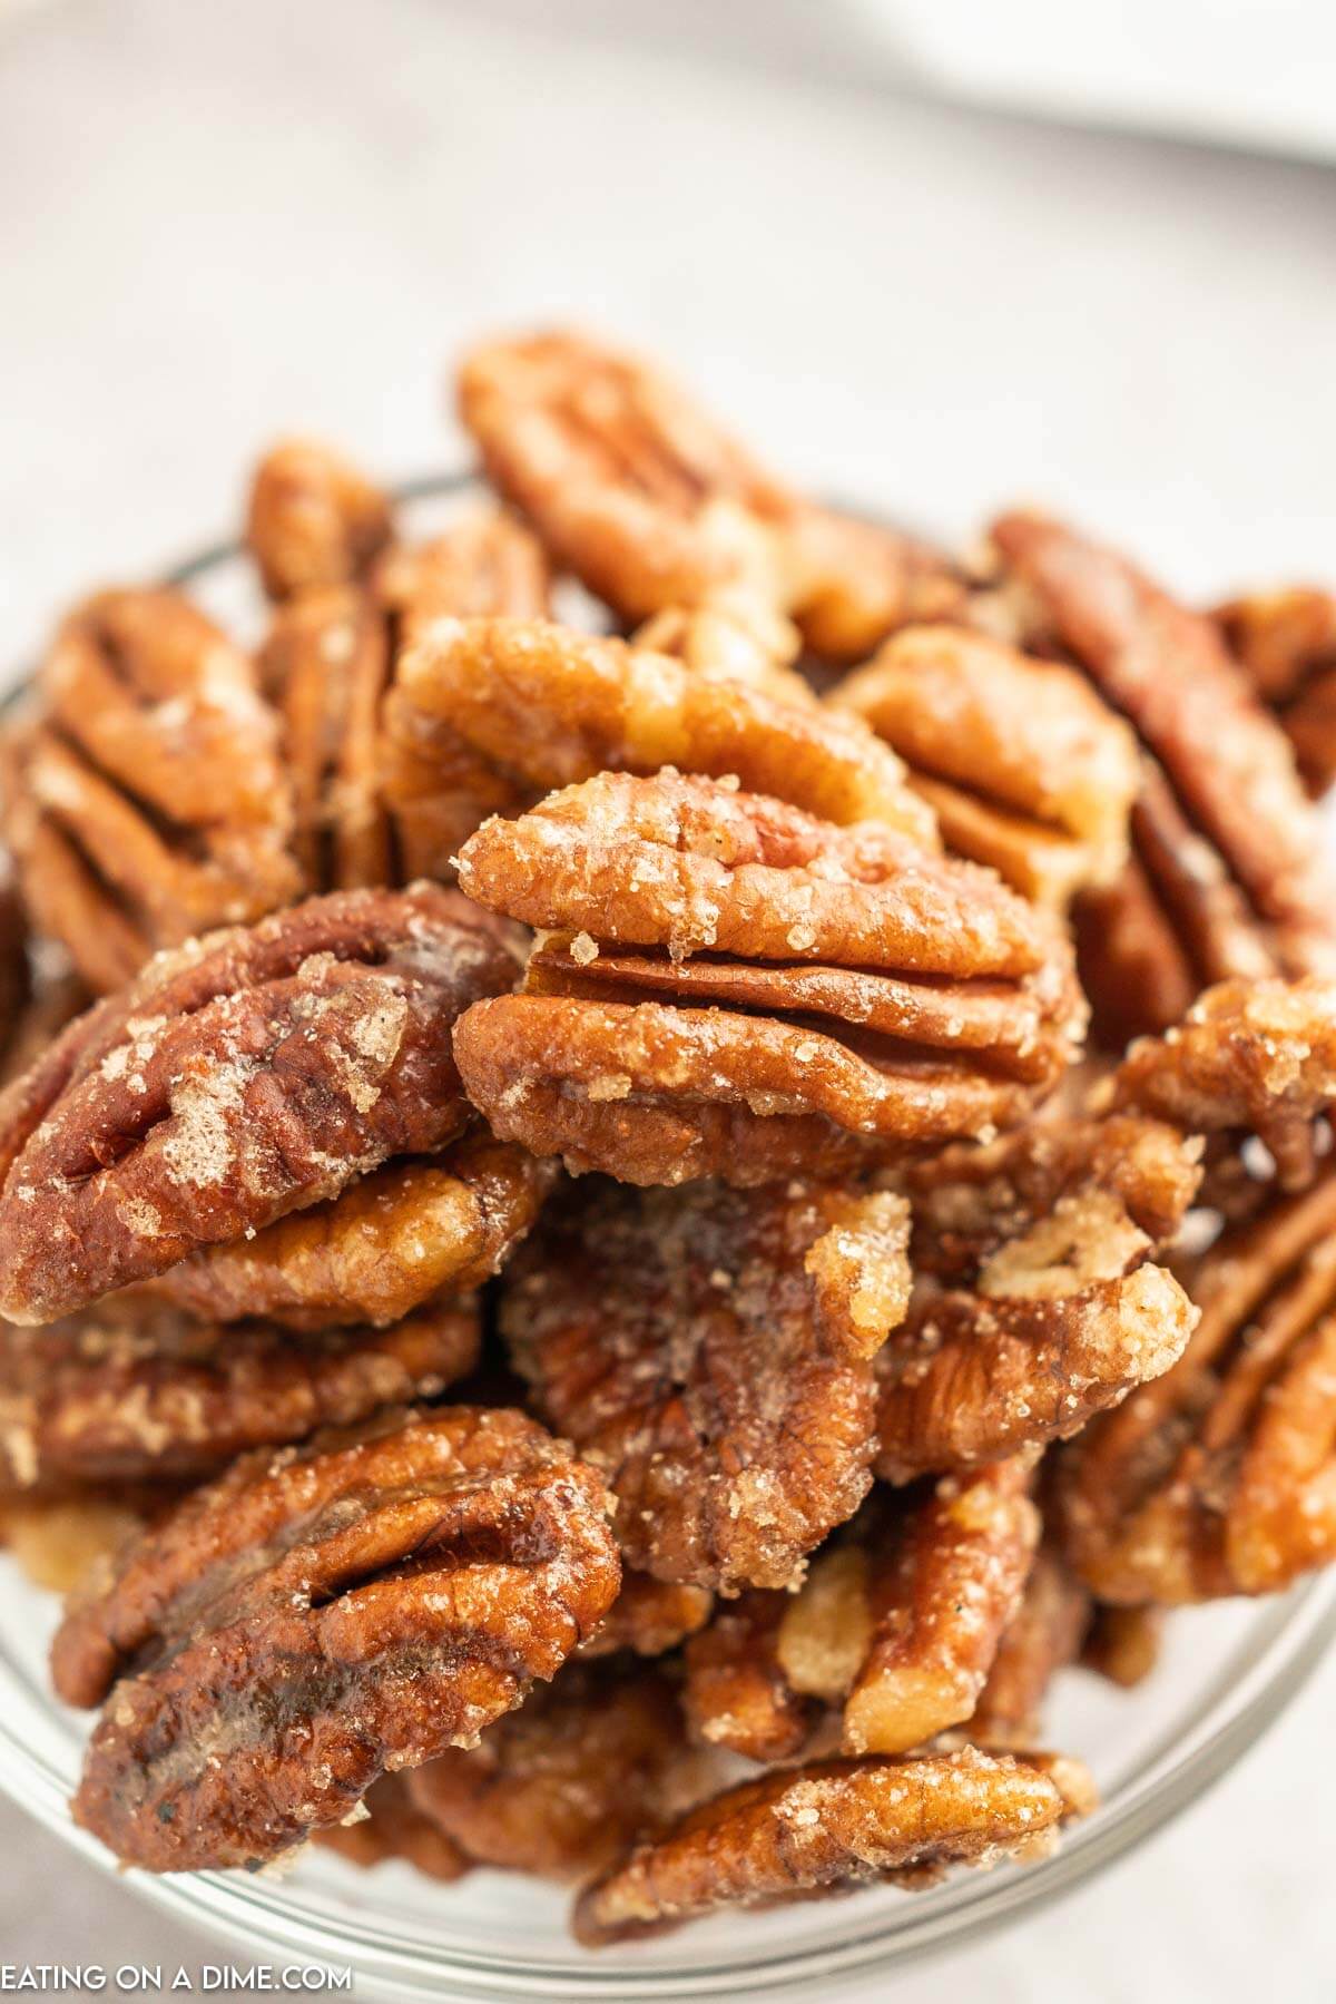
[(56, 1635), (60, 1695), (108, 1697), (74, 1820), (154, 1872), (343, 1822), (593, 1631), (619, 1571), (605, 1507), (593, 1469), (505, 1411), (234, 1463)]

